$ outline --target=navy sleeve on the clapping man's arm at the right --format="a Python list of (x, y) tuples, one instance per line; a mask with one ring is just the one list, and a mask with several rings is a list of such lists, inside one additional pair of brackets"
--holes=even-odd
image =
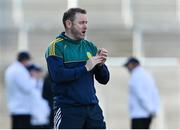
[(101, 84), (107, 84), (110, 78), (109, 70), (106, 65), (96, 66), (95, 79)]

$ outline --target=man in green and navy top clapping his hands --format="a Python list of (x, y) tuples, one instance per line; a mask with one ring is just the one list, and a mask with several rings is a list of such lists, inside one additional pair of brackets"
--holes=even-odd
[(99, 128), (106, 125), (94, 87), (109, 81), (104, 64), (107, 50), (98, 51), (85, 40), (86, 10), (71, 8), (64, 13), (65, 32), (48, 47), (46, 60), (54, 93), (54, 127), (63, 129)]

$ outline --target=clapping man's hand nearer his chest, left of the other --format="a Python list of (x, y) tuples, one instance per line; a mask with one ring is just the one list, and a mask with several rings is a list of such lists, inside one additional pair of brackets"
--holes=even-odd
[(100, 64), (103, 62), (103, 59), (101, 56), (94, 56), (92, 58), (90, 58), (87, 62), (86, 62), (86, 69), (87, 71), (91, 71), (97, 64)]

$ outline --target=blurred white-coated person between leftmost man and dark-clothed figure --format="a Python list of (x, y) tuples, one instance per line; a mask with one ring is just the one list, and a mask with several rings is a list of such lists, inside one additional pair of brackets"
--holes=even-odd
[(50, 108), (47, 101), (42, 97), (43, 71), (38, 65), (31, 64), (27, 66), (30, 75), (36, 79), (36, 86), (32, 86), (31, 97), (31, 128), (47, 129), (49, 128)]

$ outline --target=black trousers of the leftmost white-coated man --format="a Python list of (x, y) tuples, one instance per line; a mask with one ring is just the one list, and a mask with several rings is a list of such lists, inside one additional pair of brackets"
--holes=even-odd
[(31, 129), (30, 115), (11, 115), (12, 129)]

